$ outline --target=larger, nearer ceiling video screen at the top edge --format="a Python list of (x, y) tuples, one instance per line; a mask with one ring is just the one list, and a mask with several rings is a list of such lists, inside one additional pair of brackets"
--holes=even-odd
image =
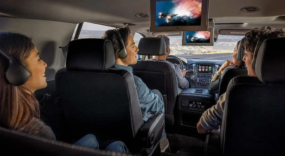
[(208, 0), (150, 0), (149, 31), (207, 31)]

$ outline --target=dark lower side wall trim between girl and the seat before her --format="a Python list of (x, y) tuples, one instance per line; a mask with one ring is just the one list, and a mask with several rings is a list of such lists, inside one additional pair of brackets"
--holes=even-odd
[(40, 118), (52, 128), (57, 140), (64, 140), (64, 118), (55, 80), (47, 81), (47, 87), (34, 92), (40, 104)]

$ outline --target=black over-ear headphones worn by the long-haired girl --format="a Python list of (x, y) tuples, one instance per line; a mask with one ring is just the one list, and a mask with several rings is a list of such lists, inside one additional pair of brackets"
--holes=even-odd
[(0, 50), (0, 54), (9, 61), (8, 68), (5, 71), (6, 80), (15, 86), (20, 86), (27, 82), (30, 76), (28, 70), (10, 54), (3, 52), (2, 50)]

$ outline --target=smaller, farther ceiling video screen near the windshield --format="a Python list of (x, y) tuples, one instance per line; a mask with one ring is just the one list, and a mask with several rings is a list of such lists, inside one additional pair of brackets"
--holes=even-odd
[(182, 45), (214, 45), (214, 28), (208, 31), (183, 31)]

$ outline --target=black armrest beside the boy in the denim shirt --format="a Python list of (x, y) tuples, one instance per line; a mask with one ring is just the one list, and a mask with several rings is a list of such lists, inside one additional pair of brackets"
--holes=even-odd
[(159, 142), (164, 125), (163, 115), (163, 113), (152, 115), (139, 129), (136, 138), (143, 147), (151, 148)]

